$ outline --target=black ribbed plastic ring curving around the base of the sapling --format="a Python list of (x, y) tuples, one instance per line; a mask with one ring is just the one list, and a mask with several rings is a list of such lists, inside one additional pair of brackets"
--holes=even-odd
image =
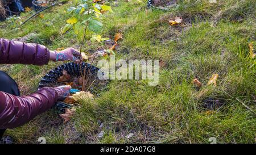
[[(81, 74), (86, 75), (86, 77), (93, 77), (98, 79), (98, 70), (96, 66), (90, 65), (88, 63), (82, 62), (81, 64), (76, 64), (74, 62), (69, 62), (52, 69), (46, 76), (44, 76), (39, 82), (38, 88), (53, 86), (57, 83), (57, 79), (63, 76), (63, 70), (66, 70), (71, 77), (79, 77)], [(102, 73), (104, 75), (104, 73)]]

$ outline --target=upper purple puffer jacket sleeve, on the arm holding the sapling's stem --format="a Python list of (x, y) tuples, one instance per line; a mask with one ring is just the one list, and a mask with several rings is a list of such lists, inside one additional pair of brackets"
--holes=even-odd
[(49, 61), (49, 49), (44, 45), (0, 39), (0, 64), (45, 65)]

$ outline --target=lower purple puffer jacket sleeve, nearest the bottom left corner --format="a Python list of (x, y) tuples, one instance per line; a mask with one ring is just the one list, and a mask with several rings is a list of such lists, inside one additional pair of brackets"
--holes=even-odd
[(44, 87), (27, 97), (16, 97), (0, 91), (0, 129), (16, 128), (49, 110), (60, 90)]

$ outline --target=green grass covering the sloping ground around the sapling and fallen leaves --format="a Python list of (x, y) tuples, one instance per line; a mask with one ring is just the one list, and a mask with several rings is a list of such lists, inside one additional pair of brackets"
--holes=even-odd
[[(255, 59), (248, 57), (248, 44), (256, 47), (254, 1), (183, 0), (170, 11), (146, 11), (146, 1), (110, 4), (114, 14), (104, 16), (101, 35), (113, 39), (115, 33), (123, 33), (118, 58), (163, 61), (159, 85), (113, 80), (100, 97), (81, 101), (71, 122), (63, 123), (50, 110), (22, 127), (8, 129), (16, 143), (37, 143), (38, 137), (46, 137), (47, 143), (209, 143), (209, 137), (216, 137), (217, 143), (255, 143), (255, 115), (242, 104), (255, 112)], [(35, 32), (38, 37), (30, 42), (50, 49), (77, 47), (72, 33), (60, 35), (69, 6), (53, 7), (43, 19), (32, 19), (19, 30), (2, 22), (6, 27), (0, 37)], [(175, 16), (183, 17), (185, 27), (168, 25)], [(86, 50), (99, 46), (87, 45)], [(57, 65), (1, 65), (1, 70), (26, 95), (36, 91), (40, 78)], [(219, 74), (217, 86), (207, 86), (213, 73)], [(195, 77), (203, 83), (199, 90), (191, 83)], [(224, 106), (205, 110), (205, 98), (219, 99)], [(105, 134), (99, 138), (101, 131)], [(129, 133), (134, 136), (127, 139)]]

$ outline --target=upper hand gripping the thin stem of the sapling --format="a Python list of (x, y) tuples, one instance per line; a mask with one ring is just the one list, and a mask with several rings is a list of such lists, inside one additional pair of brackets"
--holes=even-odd
[(80, 52), (75, 48), (66, 48), (63, 51), (50, 51), (50, 60), (52, 61), (82, 61), (82, 56)]

